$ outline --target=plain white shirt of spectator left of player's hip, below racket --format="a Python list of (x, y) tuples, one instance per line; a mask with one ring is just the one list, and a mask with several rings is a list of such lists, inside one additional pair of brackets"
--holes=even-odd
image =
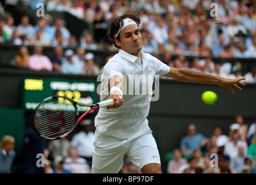
[(71, 140), (71, 146), (78, 150), (78, 154), (81, 157), (93, 156), (93, 140), (94, 133), (89, 131), (88, 134), (85, 131), (80, 131), (75, 134)]

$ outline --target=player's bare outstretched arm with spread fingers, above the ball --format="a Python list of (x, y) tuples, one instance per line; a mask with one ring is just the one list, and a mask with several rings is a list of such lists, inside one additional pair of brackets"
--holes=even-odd
[(221, 87), (227, 87), (231, 90), (232, 94), (235, 94), (233, 87), (237, 88), (238, 90), (242, 90), (237, 85), (245, 86), (246, 84), (240, 82), (241, 80), (246, 79), (245, 77), (238, 78), (238, 79), (226, 79), (220, 76), (214, 75), (207, 75), (204, 73), (200, 73), (194, 71), (192, 69), (175, 69), (170, 68), (169, 73), (163, 75), (166, 77), (172, 77), (181, 82), (191, 82), (191, 83), (207, 83), (207, 84), (216, 84)]

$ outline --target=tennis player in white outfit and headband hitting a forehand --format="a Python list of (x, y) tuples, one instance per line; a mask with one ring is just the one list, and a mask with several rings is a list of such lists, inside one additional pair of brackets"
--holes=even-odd
[[(232, 87), (242, 90), (237, 84), (245, 86), (240, 82), (245, 78), (225, 79), (191, 69), (170, 68), (150, 54), (143, 53), (139, 24), (140, 17), (134, 13), (110, 19), (108, 35), (114, 39), (119, 53), (104, 66), (101, 101), (112, 98), (114, 103), (101, 108), (95, 118), (92, 173), (118, 173), (125, 154), (142, 173), (162, 173), (158, 147), (148, 127), (150, 93), (136, 94), (138, 87), (152, 84), (148, 82), (152, 79), (149, 75), (163, 75), (182, 82), (218, 84), (228, 87), (233, 94)], [(144, 76), (137, 80), (141, 86), (133, 83), (136, 77), (131, 77), (136, 75)], [(134, 89), (128, 91), (128, 87)]]

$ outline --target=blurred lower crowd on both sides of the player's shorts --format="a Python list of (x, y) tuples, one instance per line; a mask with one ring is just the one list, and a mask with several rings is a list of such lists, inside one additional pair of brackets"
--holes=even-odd
[[(14, 151), (15, 139), (5, 135), (0, 141), (0, 173), (12, 172), (12, 166), (23, 165), (21, 173), (90, 173), (92, 169), (93, 121), (82, 120), (71, 137), (46, 142), (34, 128), (24, 135), (20, 156)], [(163, 173), (256, 173), (256, 116), (244, 123), (237, 114), (227, 134), (214, 125), (210, 135), (198, 132), (189, 123), (177, 147), (162, 156)], [(38, 157), (42, 154), (42, 157)], [(16, 164), (15, 164), (16, 160)], [(125, 155), (119, 173), (141, 173)]]

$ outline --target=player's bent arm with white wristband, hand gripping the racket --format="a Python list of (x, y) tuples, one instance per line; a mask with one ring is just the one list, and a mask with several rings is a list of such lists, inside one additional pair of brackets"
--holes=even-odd
[(118, 108), (119, 106), (121, 106), (123, 103), (123, 77), (120, 75), (111, 77), (108, 81), (108, 90), (111, 92), (108, 99), (114, 99), (114, 103), (107, 106), (107, 108)]

